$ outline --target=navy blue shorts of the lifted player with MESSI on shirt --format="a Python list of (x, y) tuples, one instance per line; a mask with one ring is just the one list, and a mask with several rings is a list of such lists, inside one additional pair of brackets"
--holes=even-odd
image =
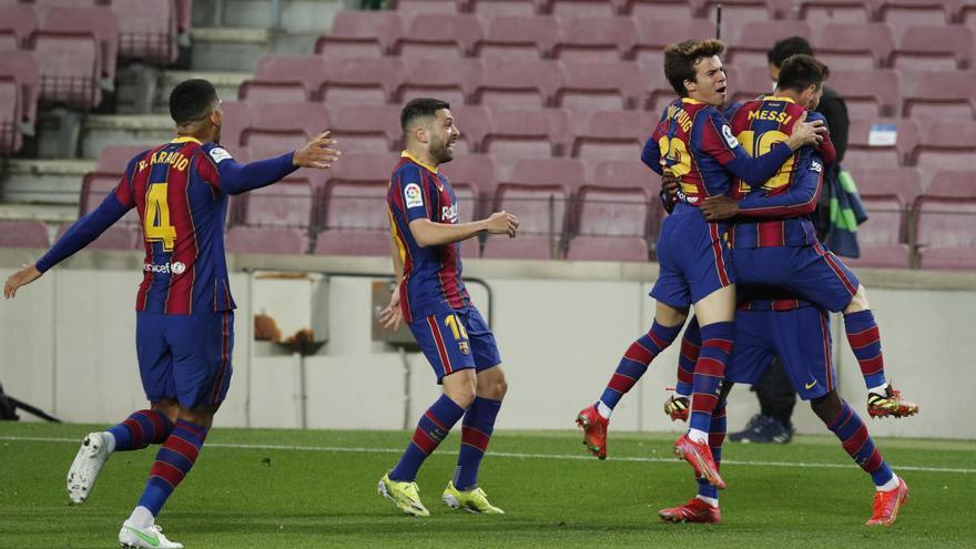
[(741, 284), (776, 286), (833, 313), (847, 308), (861, 285), (844, 262), (820, 243), (735, 247), (732, 261)]

